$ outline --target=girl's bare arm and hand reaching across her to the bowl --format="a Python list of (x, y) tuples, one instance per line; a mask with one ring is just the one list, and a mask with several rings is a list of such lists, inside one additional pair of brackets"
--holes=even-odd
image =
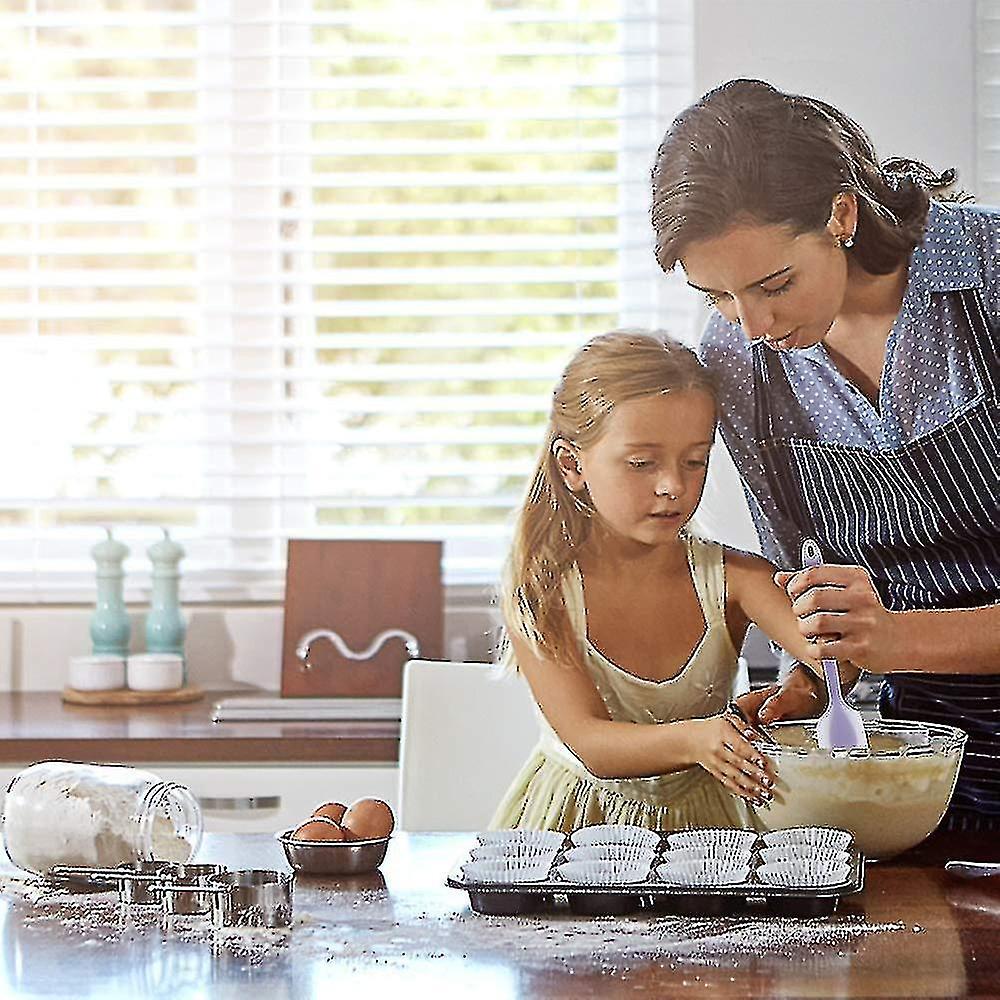
[(517, 635), (510, 641), (542, 714), (596, 777), (651, 777), (698, 764), (736, 795), (770, 798), (769, 763), (728, 716), (650, 725), (613, 722), (582, 670), (541, 659)]

